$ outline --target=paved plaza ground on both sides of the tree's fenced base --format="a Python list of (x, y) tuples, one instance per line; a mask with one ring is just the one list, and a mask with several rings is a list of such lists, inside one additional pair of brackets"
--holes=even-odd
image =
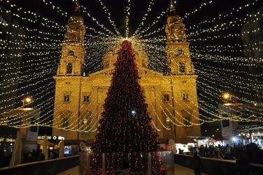
[[(188, 169), (182, 167), (180, 165), (174, 165), (175, 175), (194, 175), (194, 171), (192, 169)], [(77, 175), (78, 167), (74, 167), (73, 169), (69, 169), (66, 172), (59, 173), (57, 175)]]

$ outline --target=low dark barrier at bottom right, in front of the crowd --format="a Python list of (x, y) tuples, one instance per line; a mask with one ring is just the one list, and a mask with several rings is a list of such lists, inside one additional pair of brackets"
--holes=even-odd
[[(175, 163), (183, 167), (193, 169), (192, 155), (176, 154)], [(249, 165), (237, 165), (235, 160), (222, 160), (201, 157), (201, 172), (211, 175), (263, 175), (263, 165), (250, 163)]]

